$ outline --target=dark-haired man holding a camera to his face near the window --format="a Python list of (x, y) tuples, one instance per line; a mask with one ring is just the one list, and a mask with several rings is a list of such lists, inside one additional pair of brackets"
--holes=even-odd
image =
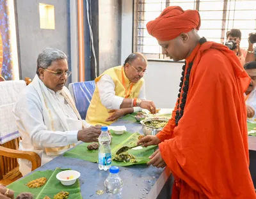
[[(249, 34), (249, 37), (252, 33)], [(254, 61), (253, 54), (253, 43), (248, 40), (248, 50), (240, 47), (240, 42), (242, 38), (242, 33), (239, 29), (231, 29), (226, 33), (227, 41), (236, 41), (236, 49), (233, 51), (236, 53), (240, 63), (244, 66), (245, 63)]]

